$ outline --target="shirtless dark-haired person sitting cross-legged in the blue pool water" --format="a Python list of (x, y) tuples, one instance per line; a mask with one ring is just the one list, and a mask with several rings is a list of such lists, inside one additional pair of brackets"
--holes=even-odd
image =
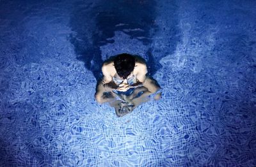
[[(136, 55), (116, 55), (104, 62), (102, 73), (104, 76), (97, 84), (95, 99), (99, 103), (111, 103), (120, 117), (148, 101), (148, 96), (160, 89), (156, 80), (146, 75), (145, 61)], [(154, 96), (154, 99), (160, 98), (161, 93)]]

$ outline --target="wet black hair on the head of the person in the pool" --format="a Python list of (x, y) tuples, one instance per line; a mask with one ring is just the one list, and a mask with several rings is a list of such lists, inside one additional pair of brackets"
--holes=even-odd
[(119, 54), (114, 59), (117, 74), (122, 78), (127, 78), (135, 66), (135, 58), (130, 54)]

